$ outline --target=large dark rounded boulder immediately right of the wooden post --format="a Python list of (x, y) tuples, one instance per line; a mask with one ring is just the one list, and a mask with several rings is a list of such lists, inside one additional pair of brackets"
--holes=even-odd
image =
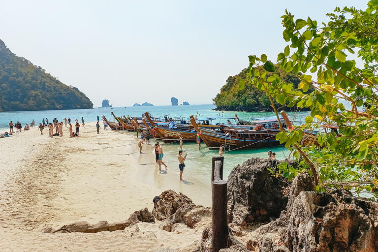
[(269, 159), (250, 158), (232, 169), (227, 180), (228, 222), (246, 226), (280, 216), (287, 196), (280, 181), (269, 174), (268, 168), (275, 166)]

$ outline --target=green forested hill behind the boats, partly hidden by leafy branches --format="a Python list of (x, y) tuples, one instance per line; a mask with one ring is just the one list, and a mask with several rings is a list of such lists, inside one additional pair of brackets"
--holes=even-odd
[[(301, 82), (299, 78), (295, 77), (292, 72), (286, 73), (284, 69), (275, 67), (274, 74), (280, 76), (280, 78), (286, 83), (293, 83), (295, 89), (298, 88), (298, 84)], [(267, 77), (272, 75), (268, 73)], [(226, 84), (221, 88), (221, 93), (213, 98), (214, 105), (217, 105), (217, 110), (228, 111), (273, 111), (270, 106), (270, 100), (265, 92), (258, 90), (255, 86), (246, 81), (245, 88), (239, 90), (239, 81), (241, 79), (247, 80), (247, 69), (243, 69), (238, 75), (230, 76), (226, 80)], [(309, 89), (309, 93), (312, 92)], [(275, 103), (276, 107), (281, 107), (279, 103)], [(283, 110), (296, 110), (297, 107), (284, 107)], [(309, 110), (307, 108), (301, 110)]]

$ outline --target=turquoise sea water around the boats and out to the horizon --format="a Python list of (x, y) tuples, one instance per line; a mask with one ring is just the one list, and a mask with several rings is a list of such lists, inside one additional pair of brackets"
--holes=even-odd
[[(184, 116), (189, 118), (190, 115), (195, 115), (198, 112), (198, 118), (207, 118), (219, 116), (221, 118), (214, 120), (213, 123), (226, 123), (227, 118), (234, 118), (235, 114), (240, 119), (249, 120), (250, 118), (268, 117), (274, 116), (272, 112), (230, 112), (230, 111), (215, 111), (216, 106), (207, 105), (189, 105), (189, 106), (150, 106), (150, 107), (115, 107), (111, 108), (94, 108), (94, 109), (78, 109), (78, 110), (48, 110), (48, 111), (23, 111), (23, 112), (2, 112), (0, 113), (0, 133), (8, 131), (8, 124), (12, 120), (14, 123), (19, 121), (24, 127), (27, 123), (30, 124), (34, 119), (35, 125), (42, 122), (43, 118), (48, 118), (52, 121), (53, 118), (57, 118), (59, 121), (63, 121), (64, 118), (71, 118), (74, 121), (76, 118), (81, 121), (81, 117), (85, 122), (96, 122), (97, 116), (102, 118), (104, 115), (108, 120), (113, 121), (111, 112), (114, 112), (116, 116), (142, 116), (143, 113), (148, 111), (155, 117), (162, 117), (168, 115), (168, 117)], [(292, 119), (294, 113), (287, 113), (289, 118)], [(304, 118), (308, 116), (310, 112), (298, 112), (296, 114), (296, 121), (304, 121)], [(126, 133), (126, 132), (121, 132)], [(126, 134), (135, 135), (134, 132), (127, 132)], [(153, 141), (151, 142), (154, 143)], [(0, 141), (1, 146), (1, 141)], [(179, 150), (179, 143), (164, 144), (164, 159), (167, 164), (175, 165), (177, 162), (177, 155)], [(136, 146), (135, 146), (136, 147)], [(147, 147), (147, 146), (146, 146)], [(136, 148), (135, 148), (136, 149)], [(289, 151), (284, 147), (275, 148), (261, 148), (259, 150), (236, 150), (227, 152), (224, 154), (224, 179), (227, 178), (232, 168), (237, 164), (242, 164), (245, 160), (252, 157), (267, 157), (267, 152), (272, 150), (276, 152), (277, 159), (284, 159), (289, 155)], [(146, 150), (147, 151), (147, 150)], [(208, 183), (210, 181), (211, 171), (211, 158), (218, 156), (218, 151), (210, 151), (204, 143), (201, 144), (201, 151), (198, 151), (198, 144), (196, 143), (184, 143), (184, 152), (188, 153), (186, 175), (191, 177), (192, 180), (196, 180), (202, 183)], [(150, 153), (150, 151), (148, 151)], [(126, 154), (126, 153), (125, 153)], [(132, 154), (139, 155), (139, 154)], [(153, 157), (153, 155), (151, 155)], [(154, 159), (151, 159), (154, 161)], [(178, 173), (178, 169), (177, 169)]]

